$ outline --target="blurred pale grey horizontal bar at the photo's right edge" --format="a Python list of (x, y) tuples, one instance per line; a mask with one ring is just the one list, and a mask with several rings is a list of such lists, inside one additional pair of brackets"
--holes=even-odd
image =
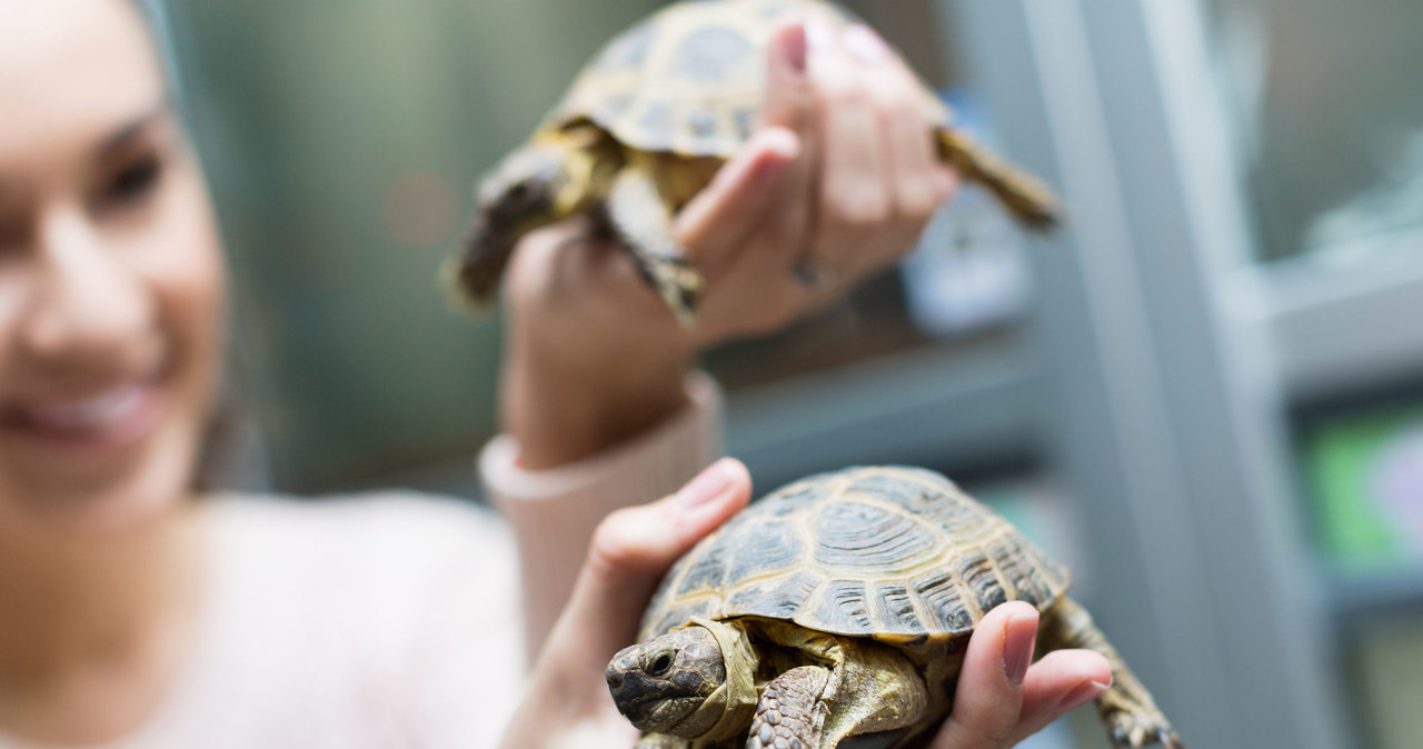
[(1409, 232), (1360, 247), (1356, 262), (1301, 257), (1252, 271), (1291, 397), (1423, 375), (1419, 247), (1423, 232)]

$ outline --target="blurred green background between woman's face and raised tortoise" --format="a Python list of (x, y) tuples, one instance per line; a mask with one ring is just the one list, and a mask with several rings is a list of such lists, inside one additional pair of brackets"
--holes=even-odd
[[(451, 316), (435, 270), (474, 176), (656, 4), (166, 6), (235, 274), (246, 408), (279, 487), (472, 456), (492, 433), (497, 318)], [(411, 182), (414, 240), (387, 219), (387, 192)]]

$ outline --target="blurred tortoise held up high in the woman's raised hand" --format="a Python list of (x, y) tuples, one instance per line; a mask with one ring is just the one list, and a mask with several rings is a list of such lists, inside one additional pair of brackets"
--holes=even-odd
[[(528, 142), (481, 179), (474, 226), (450, 269), (461, 296), (487, 306), (524, 233), (585, 213), (690, 324), (702, 281), (672, 237), (672, 217), (751, 134), (764, 50), (784, 18), (855, 23), (821, 0), (683, 1), (608, 43)], [(1056, 223), (1052, 193), (951, 129), (929, 90), (924, 111), (941, 158), (962, 178), (986, 185), (1029, 226)]]

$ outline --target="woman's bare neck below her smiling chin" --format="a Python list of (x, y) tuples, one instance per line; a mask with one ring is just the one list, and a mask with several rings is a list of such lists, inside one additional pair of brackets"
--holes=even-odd
[(147, 718), (195, 630), (199, 512), (107, 539), (0, 539), (0, 726), (94, 742)]

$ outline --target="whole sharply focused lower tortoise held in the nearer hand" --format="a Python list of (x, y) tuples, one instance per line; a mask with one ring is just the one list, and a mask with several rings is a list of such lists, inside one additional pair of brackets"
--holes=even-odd
[(922, 746), (949, 712), (973, 625), (1019, 600), (1042, 611), (1039, 655), (1111, 661), (1097, 709), (1117, 746), (1180, 749), (1067, 586), (1066, 569), (939, 473), (822, 473), (679, 560), (608, 685), (639, 749)]

